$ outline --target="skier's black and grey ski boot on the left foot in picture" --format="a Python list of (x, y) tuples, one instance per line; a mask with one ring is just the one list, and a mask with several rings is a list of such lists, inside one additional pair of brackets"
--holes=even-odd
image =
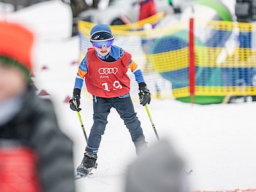
[(81, 177), (86, 177), (87, 175), (90, 175), (90, 172), (92, 172), (93, 168), (96, 169), (98, 166), (96, 160), (96, 155), (85, 152), (82, 163), (76, 169), (77, 175), (75, 175), (75, 179), (80, 179)]

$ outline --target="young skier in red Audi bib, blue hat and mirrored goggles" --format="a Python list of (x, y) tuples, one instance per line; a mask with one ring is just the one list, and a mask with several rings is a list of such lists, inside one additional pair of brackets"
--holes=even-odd
[(128, 68), (133, 72), (139, 85), (140, 104), (150, 103), (150, 92), (144, 82), (138, 65), (131, 54), (113, 45), (114, 36), (106, 24), (97, 24), (90, 33), (93, 47), (89, 48), (79, 65), (70, 108), (80, 111), (80, 93), (85, 79), (86, 88), (93, 95), (93, 126), (88, 138), (82, 163), (77, 173), (90, 173), (96, 166), (100, 140), (104, 134), (110, 109), (115, 108), (131, 133), (136, 154), (147, 148), (147, 142), (141, 129), (140, 120), (134, 112), (129, 94), (130, 79)]

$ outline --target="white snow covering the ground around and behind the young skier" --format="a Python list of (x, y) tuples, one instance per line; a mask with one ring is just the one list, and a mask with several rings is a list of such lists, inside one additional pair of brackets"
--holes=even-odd
[[(234, 1), (230, 1), (230, 3)], [(53, 12), (54, 10), (54, 12)], [(17, 20), (35, 29), (35, 84), (51, 94), (61, 129), (74, 141), (74, 167), (83, 158), (83, 132), (77, 114), (63, 102), (72, 95), (79, 58), (79, 39), (67, 38), (71, 31), (71, 11), (60, 1), (36, 4), (17, 13), (4, 13), (0, 19)], [(49, 22), (54, 15), (58, 26)], [(40, 22), (44, 20), (44, 25)], [(39, 23), (38, 23), (39, 22)], [(54, 33), (50, 34), (49, 31)], [(42, 67), (48, 67), (42, 70)], [(83, 92), (81, 116), (87, 134), (93, 124), (92, 98)], [(145, 108), (134, 100), (134, 108), (149, 147), (157, 142)], [(148, 106), (157, 132), (166, 138), (186, 161), (193, 190), (256, 189), (256, 102), (185, 104), (174, 99), (152, 100)], [(98, 169), (86, 179), (76, 180), (77, 191), (124, 191), (127, 165), (136, 158), (124, 122), (111, 109), (106, 132), (98, 153)]]

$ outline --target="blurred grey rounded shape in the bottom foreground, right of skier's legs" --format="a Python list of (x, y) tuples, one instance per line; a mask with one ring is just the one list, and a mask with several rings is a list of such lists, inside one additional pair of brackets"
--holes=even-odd
[(191, 192), (187, 175), (182, 157), (161, 140), (129, 166), (125, 192)]

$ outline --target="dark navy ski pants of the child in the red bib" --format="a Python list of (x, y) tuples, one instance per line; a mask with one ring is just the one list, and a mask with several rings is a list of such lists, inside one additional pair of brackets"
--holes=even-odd
[(135, 147), (145, 144), (145, 137), (141, 129), (140, 120), (134, 112), (134, 107), (129, 94), (127, 97), (102, 98), (93, 96), (93, 126), (88, 138), (87, 152), (97, 154), (101, 136), (104, 134), (110, 109), (115, 108), (127, 129), (131, 133)]

